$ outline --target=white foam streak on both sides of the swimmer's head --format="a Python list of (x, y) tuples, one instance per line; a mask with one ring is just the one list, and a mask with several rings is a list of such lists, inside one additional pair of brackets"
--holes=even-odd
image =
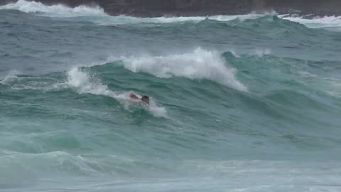
[[(92, 95), (105, 95), (119, 100), (119, 102), (124, 104), (126, 109), (129, 109), (131, 106), (129, 97), (131, 92), (123, 92), (119, 94), (109, 90), (107, 85), (103, 85), (100, 80), (80, 68), (72, 68), (67, 71), (67, 85), (76, 88), (80, 94), (90, 93)], [(156, 104), (156, 101), (153, 100), (153, 97), (150, 97), (149, 107), (146, 108), (146, 110), (156, 117), (167, 117), (166, 109), (164, 107), (159, 107)]]

